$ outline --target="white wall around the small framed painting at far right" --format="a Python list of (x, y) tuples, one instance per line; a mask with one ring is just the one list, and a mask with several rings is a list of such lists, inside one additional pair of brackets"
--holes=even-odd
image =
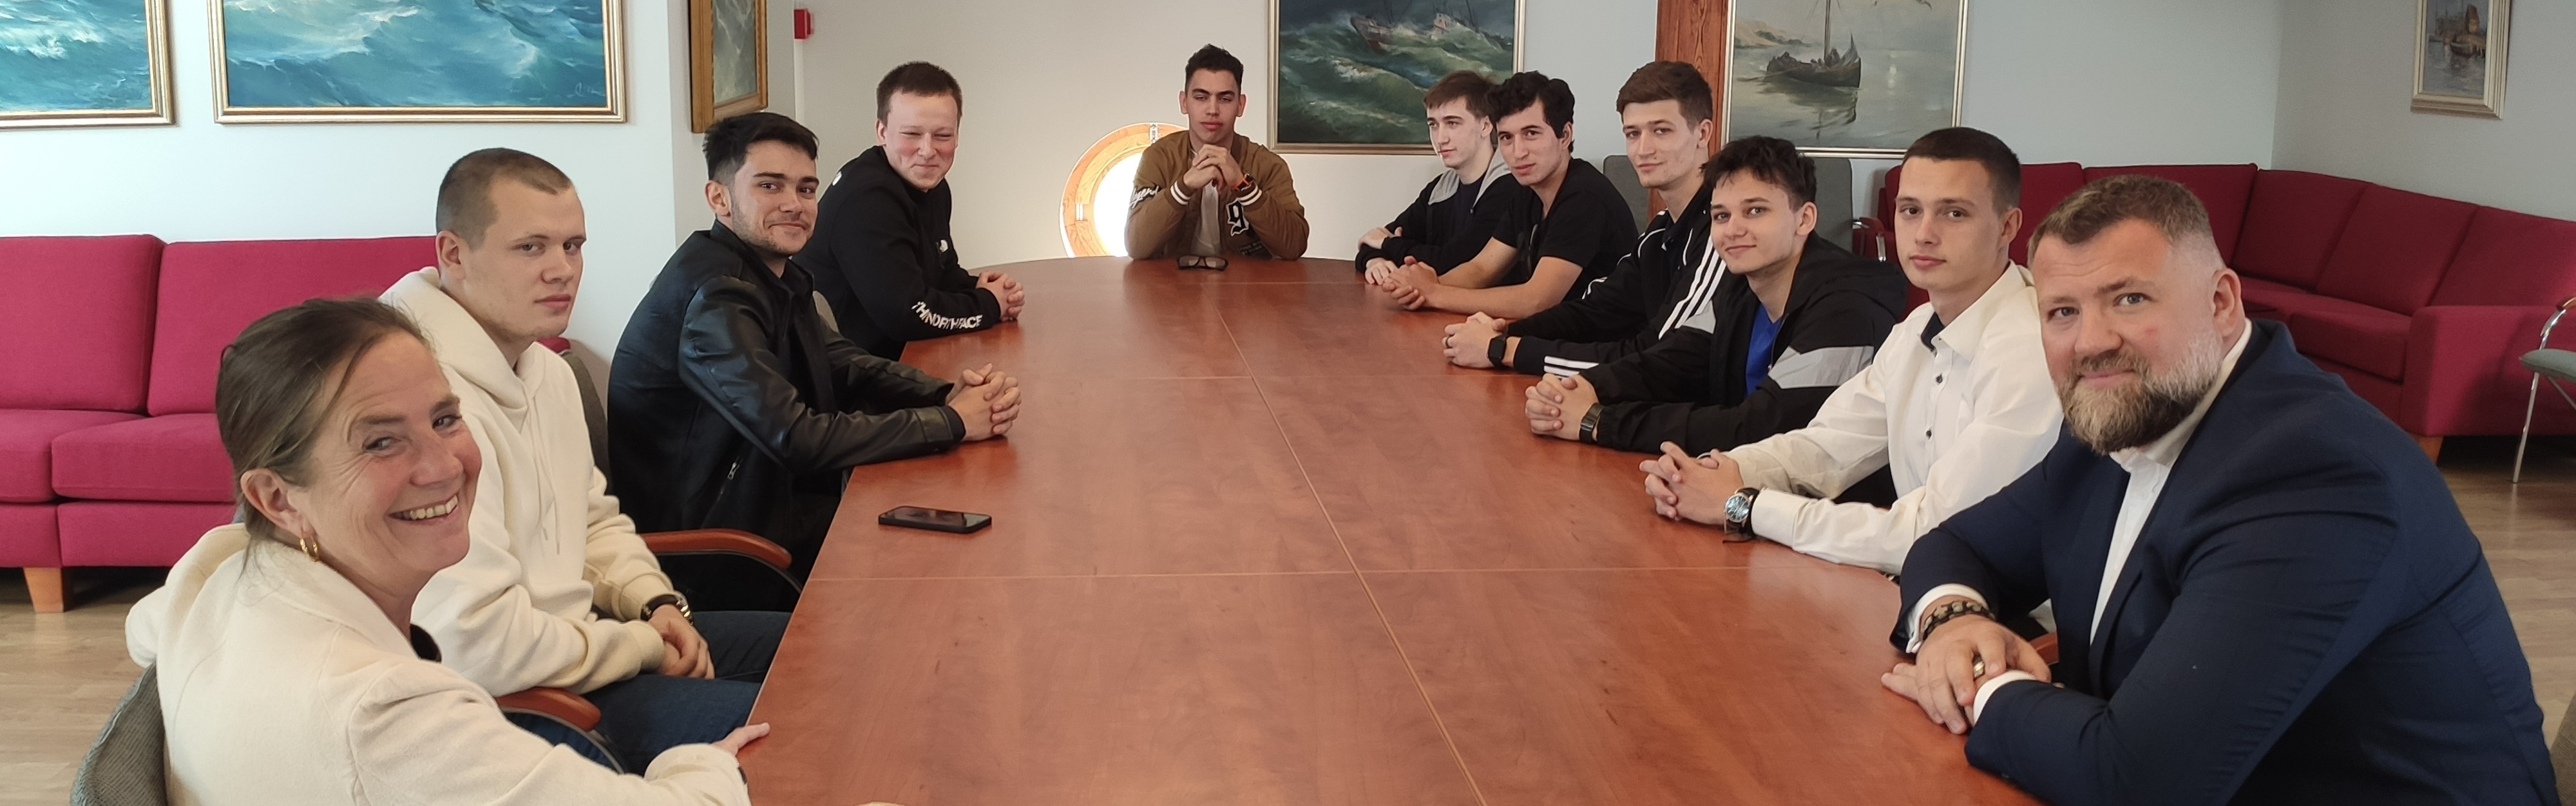
[(2275, 167), (2576, 219), (2576, 5), (2514, 3), (2504, 118), (2409, 111), (2414, 0), (2285, 0)]

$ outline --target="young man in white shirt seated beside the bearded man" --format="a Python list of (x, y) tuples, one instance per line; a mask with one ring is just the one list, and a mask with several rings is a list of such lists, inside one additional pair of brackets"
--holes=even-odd
[[(1932, 294), (1806, 427), (1700, 458), (1641, 464), (1654, 510), (1893, 574), (1914, 538), (2030, 471), (2058, 440), (2022, 232), (2022, 160), (1994, 134), (1940, 129), (1906, 149), (1896, 252)], [(1875, 471), (1896, 502), (1832, 502)]]

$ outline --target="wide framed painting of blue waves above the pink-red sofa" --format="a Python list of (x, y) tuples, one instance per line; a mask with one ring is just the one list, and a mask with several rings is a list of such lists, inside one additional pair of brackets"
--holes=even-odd
[(626, 0), (219, 0), (214, 118), (626, 121)]

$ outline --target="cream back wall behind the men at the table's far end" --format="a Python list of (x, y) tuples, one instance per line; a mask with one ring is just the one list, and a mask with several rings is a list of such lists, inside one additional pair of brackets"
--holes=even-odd
[[(1061, 258), (1064, 180), (1103, 134), (1180, 121), (1180, 64), (1200, 44), (1244, 59), (1252, 106), (1242, 131), (1270, 136), (1270, 5), (1260, 0), (806, 0), (804, 124), (822, 134), (824, 173), (876, 144), (876, 80), (902, 62), (935, 62), (966, 88), (966, 126), (951, 188), (969, 265)], [(1610, 95), (1654, 54), (1654, 0), (1528, 0), (1530, 70), (1577, 95), (1577, 155), (1620, 152)], [(1314, 224), (1309, 255), (1350, 258), (1360, 232), (1386, 224), (1440, 162), (1422, 157), (1288, 155)]]

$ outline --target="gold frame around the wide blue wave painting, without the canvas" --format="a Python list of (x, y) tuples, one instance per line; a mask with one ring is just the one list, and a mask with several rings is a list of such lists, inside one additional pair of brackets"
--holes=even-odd
[[(312, 0), (307, 0), (312, 3)], [(209, 3), (206, 36), (214, 52), (216, 124), (623, 124), (626, 121), (626, 0), (600, 3), (603, 103), (600, 106), (234, 106), (232, 62), (224, 57), (224, 8)]]

